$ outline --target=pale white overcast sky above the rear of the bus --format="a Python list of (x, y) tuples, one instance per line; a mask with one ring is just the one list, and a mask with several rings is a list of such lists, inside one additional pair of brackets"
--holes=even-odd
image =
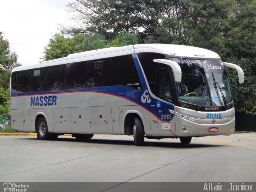
[(18, 63), (36, 64), (58, 24), (74, 26), (65, 6), (74, 0), (0, 0), (0, 31), (8, 39), (10, 50), (18, 54)]

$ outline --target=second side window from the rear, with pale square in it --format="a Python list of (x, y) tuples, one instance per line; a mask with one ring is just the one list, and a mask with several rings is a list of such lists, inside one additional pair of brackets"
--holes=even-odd
[(28, 92), (45, 90), (45, 68), (28, 70)]

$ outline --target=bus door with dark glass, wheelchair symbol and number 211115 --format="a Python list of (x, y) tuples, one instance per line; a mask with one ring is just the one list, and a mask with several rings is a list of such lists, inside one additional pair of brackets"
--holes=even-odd
[(158, 68), (156, 70), (156, 114), (158, 116), (158, 135), (176, 136), (174, 98), (168, 68)]

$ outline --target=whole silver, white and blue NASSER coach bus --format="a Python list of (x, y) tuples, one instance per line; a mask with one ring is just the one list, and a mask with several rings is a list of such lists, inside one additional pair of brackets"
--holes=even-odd
[(12, 128), (40, 140), (62, 134), (179, 138), (230, 135), (235, 110), (225, 70), (234, 68), (210, 50), (171, 44), (136, 44), (70, 54), (12, 70)]

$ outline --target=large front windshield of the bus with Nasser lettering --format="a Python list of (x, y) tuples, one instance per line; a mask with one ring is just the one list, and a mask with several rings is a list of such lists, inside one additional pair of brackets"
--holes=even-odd
[(228, 75), (221, 60), (170, 58), (182, 71), (178, 100), (201, 106), (226, 106), (233, 101)]

